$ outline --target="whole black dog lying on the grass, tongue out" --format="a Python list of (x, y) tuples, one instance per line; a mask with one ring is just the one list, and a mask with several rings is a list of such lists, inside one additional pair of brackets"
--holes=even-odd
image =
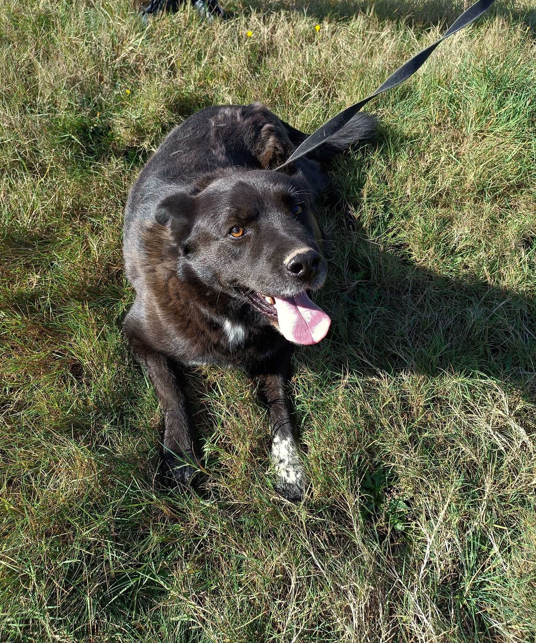
[(326, 277), (317, 201), (320, 163), (374, 132), (357, 114), (314, 159), (274, 171), (306, 138), (260, 104), (208, 107), (172, 130), (134, 184), (124, 257), (136, 300), (124, 332), (164, 413), (162, 475), (187, 484), (198, 449), (183, 369), (242, 368), (268, 404), (277, 490), (306, 480), (286, 383), (292, 343), (326, 335), (329, 317), (307, 291)]

